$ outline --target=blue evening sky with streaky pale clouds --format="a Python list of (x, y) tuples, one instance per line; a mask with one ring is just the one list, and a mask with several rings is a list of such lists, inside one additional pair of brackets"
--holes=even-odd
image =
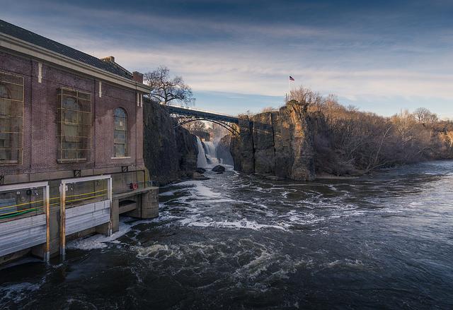
[[(21, 1), (0, 19), (142, 73), (167, 66), (195, 108), (280, 107), (288, 88), (391, 116), (453, 119), (453, 0)], [(295, 81), (289, 85), (289, 75)]]

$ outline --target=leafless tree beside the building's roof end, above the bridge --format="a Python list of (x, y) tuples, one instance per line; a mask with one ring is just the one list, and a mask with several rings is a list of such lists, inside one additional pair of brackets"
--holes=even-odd
[(195, 98), (192, 90), (183, 81), (183, 78), (176, 76), (170, 78), (170, 71), (166, 66), (160, 66), (156, 70), (144, 73), (144, 81), (151, 86), (149, 96), (151, 99), (168, 105), (170, 102), (178, 101), (186, 106), (193, 105)]

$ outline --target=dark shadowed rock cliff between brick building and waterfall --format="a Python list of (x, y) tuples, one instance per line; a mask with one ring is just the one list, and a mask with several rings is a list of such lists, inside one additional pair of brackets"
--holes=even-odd
[(143, 155), (149, 179), (163, 185), (192, 177), (197, 169), (195, 136), (181, 127), (175, 129), (164, 106), (145, 102), (143, 108)]

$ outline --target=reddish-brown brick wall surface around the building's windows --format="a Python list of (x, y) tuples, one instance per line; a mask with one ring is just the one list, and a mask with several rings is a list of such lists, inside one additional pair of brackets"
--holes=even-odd
[[(74, 169), (82, 175), (143, 169), (143, 114), (137, 107), (134, 90), (102, 82), (90, 76), (65, 71), (42, 63), (42, 83), (38, 83), (38, 61), (0, 51), (0, 70), (24, 78), (23, 160), (21, 165), (0, 165), (5, 184), (72, 177)], [(91, 152), (86, 162), (57, 162), (57, 91), (61, 87), (91, 93)], [(127, 157), (113, 159), (113, 110), (127, 112)]]

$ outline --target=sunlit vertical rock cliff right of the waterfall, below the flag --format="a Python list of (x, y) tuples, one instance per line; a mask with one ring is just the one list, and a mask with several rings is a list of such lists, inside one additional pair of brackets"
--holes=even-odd
[(292, 100), (278, 112), (263, 112), (239, 119), (240, 135), (231, 137), (236, 170), (313, 180), (314, 123), (305, 107)]

